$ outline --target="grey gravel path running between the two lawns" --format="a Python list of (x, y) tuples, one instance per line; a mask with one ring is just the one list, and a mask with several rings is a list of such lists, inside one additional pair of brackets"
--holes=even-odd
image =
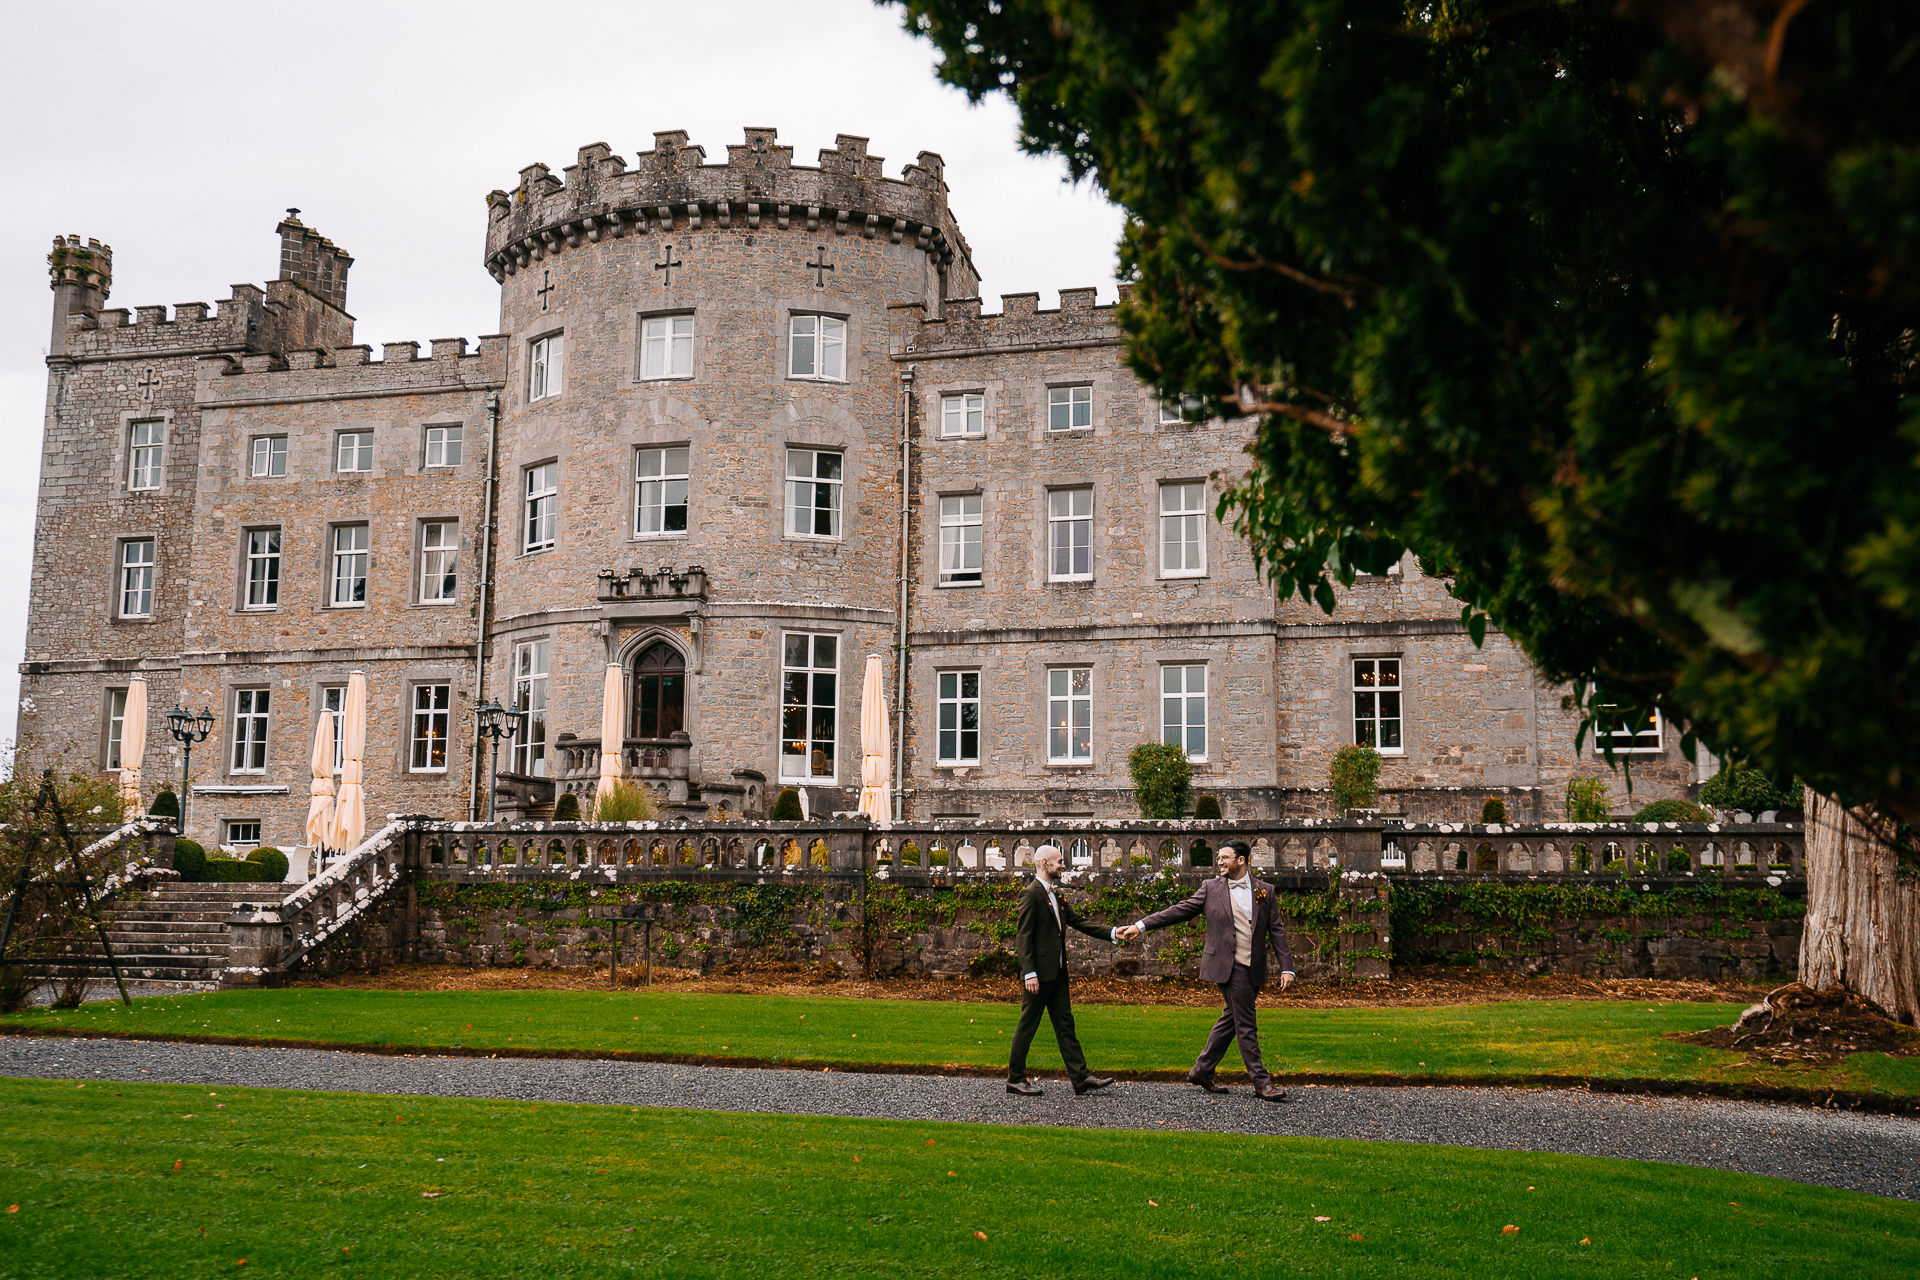
[(436, 1098), (515, 1098), (705, 1111), (772, 1111), (1071, 1128), (1375, 1138), (1509, 1151), (1613, 1155), (1757, 1173), (1920, 1199), (1920, 1119), (1753, 1102), (1517, 1088), (1246, 1088), (1121, 1082), (1075, 1098), (1012, 1098), (998, 1080), (755, 1071), (524, 1057), (378, 1057), (144, 1040), (0, 1038), (0, 1075), (156, 1080)]

